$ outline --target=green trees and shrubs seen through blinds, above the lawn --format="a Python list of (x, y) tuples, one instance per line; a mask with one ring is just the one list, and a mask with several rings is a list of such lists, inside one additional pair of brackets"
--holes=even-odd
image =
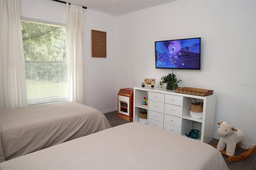
[(21, 26), (26, 78), (44, 79), (48, 75), (49, 80), (58, 81), (62, 76), (59, 65), (67, 67), (66, 28), (30, 21), (22, 21)]

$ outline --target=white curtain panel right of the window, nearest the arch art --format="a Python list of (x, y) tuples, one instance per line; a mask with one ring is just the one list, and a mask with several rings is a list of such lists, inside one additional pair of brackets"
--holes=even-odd
[(82, 6), (66, 4), (68, 100), (84, 104), (83, 10)]

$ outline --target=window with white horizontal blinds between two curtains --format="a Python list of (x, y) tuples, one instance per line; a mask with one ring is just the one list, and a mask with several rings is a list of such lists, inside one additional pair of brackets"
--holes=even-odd
[(66, 27), (21, 20), (28, 105), (67, 101)]

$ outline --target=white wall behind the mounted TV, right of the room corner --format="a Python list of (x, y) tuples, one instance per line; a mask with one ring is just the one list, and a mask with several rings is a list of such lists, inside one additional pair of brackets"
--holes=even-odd
[[(171, 73), (155, 69), (154, 42), (202, 38), (201, 70), (173, 70), (180, 87), (213, 89), (217, 122), (256, 144), (256, 2), (175, 1), (118, 17), (117, 89)], [(163, 87), (165, 88), (165, 87)]]

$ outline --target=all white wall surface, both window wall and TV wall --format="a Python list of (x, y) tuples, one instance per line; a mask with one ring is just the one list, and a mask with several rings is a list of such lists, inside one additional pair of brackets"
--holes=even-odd
[[(65, 10), (52, 0), (20, 2), (26, 18), (65, 24)], [(114, 111), (118, 89), (140, 86), (146, 77), (159, 85), (171, 70), (155, 69), (155, 41), (201, 37), (202, 69), (174, 70), (180, 86), (213, 89), (214, 133), (218, 121), (228, 121), (256, 144), (255, 11), (255, 1), (175, 1), (119, 17), (84, 9), (86, 105)], [(91, 57), (92, 29), (107, 32), (105, 59)]]

